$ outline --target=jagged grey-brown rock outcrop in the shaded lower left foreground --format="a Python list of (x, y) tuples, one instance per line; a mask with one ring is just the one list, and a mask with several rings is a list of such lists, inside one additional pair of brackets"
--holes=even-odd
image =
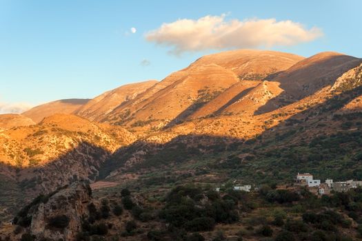
[(91, 195), (89, 185), (74, 182), (37, 198), (19, 212), (14, 222), (28, 225), (26, 230), (37, 240), (75, 240), (81, 230), (81, 217), (88, 213)]

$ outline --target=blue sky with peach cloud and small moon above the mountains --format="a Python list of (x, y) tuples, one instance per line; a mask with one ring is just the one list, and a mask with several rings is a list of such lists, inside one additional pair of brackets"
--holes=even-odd
[(0, 113), (161, 81), (205, 54), (362, 58), (361, 0), (0, 0)]

